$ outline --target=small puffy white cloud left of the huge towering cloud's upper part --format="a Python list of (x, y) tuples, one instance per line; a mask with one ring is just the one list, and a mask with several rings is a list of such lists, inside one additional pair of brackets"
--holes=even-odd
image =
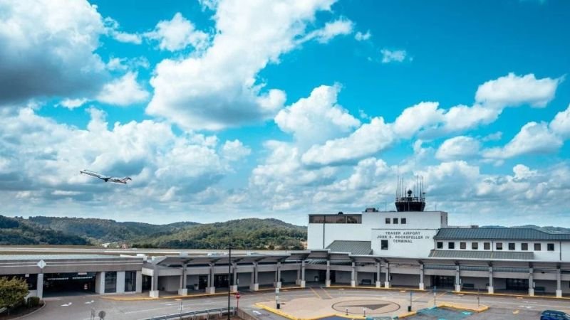
[(177, 51), (192, 46), (203, 50), (209, 44), (209, 36), (196, 30), (194, 23), (177, 12), (171, 20), (160, 21), (145, 37), (158, 41), (160, 50)]

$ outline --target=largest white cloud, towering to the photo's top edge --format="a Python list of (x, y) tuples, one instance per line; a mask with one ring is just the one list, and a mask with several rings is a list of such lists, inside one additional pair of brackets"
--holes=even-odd
[(316, 12), (330, 10), (331, 4), (219, 1), (212, 45), (199, 55), (158, 63), (147, 113), (185, 129), (209, 130), (274, 117), (285, 93), (266, 88), (257, 73), (299, 46)]

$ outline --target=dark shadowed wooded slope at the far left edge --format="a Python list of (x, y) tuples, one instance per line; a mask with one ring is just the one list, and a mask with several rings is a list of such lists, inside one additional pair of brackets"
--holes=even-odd
[(0, 245), (90, 245), (85, 238), (0, 215)]

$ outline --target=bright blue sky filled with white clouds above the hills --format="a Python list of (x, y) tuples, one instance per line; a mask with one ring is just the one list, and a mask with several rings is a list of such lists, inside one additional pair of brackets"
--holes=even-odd
[[(0, 214), (570, 227), (570, 1), (0, 0)], [(128, 184), (80, 174), (130, 176)]]

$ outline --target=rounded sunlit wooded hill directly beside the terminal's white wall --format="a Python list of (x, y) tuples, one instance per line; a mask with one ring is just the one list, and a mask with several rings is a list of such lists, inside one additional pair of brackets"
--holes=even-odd
[(133, 247), (302, 250), (306, 227), (276, 219), (240, 219), (186, 228), (170, 235), (133, 240)]

